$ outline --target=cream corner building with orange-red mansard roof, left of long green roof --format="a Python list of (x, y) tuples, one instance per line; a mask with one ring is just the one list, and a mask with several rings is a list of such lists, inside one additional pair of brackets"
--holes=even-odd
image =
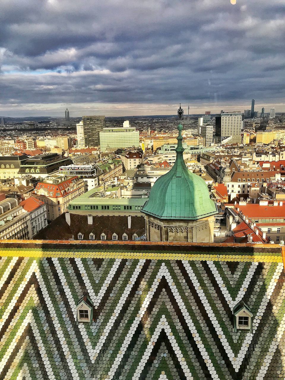
[(84, 181), (77, 176), (49, 177), (38, 182), (33, 197), (46, 204), (47, 220), (55, 220), (67, 211), (73, 198), (84, 193)]

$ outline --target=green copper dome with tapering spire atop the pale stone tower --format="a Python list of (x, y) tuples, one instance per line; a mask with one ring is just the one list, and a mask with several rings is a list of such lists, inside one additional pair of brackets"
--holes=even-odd
[(209, 197), (206, 182), (185, 165), (183, 126), (179, 124), (177, 129), (176, 161), (168, 173), (155, 181), (142, 212), (159, 219), (180, 220), (197, 220), (217, 214), (217, 206)]

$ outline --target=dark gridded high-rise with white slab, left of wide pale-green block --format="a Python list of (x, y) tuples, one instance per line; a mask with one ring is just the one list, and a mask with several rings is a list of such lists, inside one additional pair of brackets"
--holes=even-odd
[(100, 145), (100, 131), (105, 128), (105, 116), (82, 116), (76, 124), (78, 147), (95, 147)]

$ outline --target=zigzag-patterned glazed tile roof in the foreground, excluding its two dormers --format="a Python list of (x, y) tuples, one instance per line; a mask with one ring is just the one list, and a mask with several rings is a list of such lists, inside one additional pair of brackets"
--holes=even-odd
[[(279, 245), (2, 241), (0, 376), (284, 379)], [(88, 296), (91, 323), (76, 306)], [(252, 331), (235, 330), (244, 304)]]

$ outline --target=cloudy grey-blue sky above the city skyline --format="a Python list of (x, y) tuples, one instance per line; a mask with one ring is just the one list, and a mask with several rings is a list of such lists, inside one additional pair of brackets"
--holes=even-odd
[(1, 0), (0, 25), (0, 116), (285, 112), (284, 0)]

